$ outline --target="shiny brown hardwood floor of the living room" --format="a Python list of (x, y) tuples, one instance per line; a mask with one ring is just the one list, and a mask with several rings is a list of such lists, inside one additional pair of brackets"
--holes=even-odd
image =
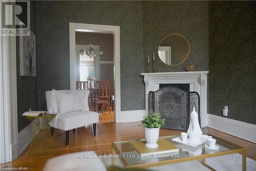
[[(80, 127), (76, 129), (75, 134), (70, 132), (69, 148), (65, 145), (65, 132), (54, 130), (53, 143), (55, 145), (54, 154), (49, 156), (30, 157), (28, 155), (28, 147), (23, 154), (13, 162), (1, 164), (1, 167), (28, 167), (29, 170), (41, 170), (46, 161), (54, 156), (68, 153), (95, 151), (97, 154), (110, 154), (112, 141), (142, 139), (144, 138), (144, 130), (139, 126), (139, 122), (133, 123), (98, 123), (97, 135), (93, 138), (92, 126)], [(245, 146), (247, 148), (247, 157), (256, 160), (256, 144), (221, 133), (216, 130), (209, 129), (209, 132), (219, 137), (225, 138)], [(160, 130), (160, 136), (177, 135), (179, 131)]]

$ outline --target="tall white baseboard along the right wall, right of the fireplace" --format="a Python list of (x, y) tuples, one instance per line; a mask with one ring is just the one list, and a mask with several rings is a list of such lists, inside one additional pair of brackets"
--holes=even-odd
[(212, 129), (256, 143), (256, 125), (211, 114), (207, 117)]

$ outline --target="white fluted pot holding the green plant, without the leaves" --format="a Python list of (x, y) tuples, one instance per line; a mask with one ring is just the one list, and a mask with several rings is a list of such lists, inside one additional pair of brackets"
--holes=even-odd
[(145, 146), (148, 148), (158, 147), (157, 140), (159, 138), (160, 127), (154, 128), (154, 129), (149, 129), (147, 127), (144, 127), (144, 129), (145, 129), (145, 138), (146, 138)]

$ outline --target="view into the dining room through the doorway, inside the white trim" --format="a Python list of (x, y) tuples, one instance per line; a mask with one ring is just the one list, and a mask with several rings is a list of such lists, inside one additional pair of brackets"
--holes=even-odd
[[(75, 34), (76, 87), (90, 90), (89, 108), (100, 114), (99, 122), (114, 122), (113, 33), (80, 30)], [(108, 83), (103, 85), (106, 81)], [(102, 94), (102, 91), (106, 93)]]

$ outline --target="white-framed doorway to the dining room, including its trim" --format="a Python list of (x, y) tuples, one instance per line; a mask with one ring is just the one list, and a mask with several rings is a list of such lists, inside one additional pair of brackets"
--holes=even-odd
[[(110, 122), (112, 120), (116, 123), (120, 123), (119, 37), (119, 26), (70, 23), (70, 88), (76, 89), (76, 81), (88, 81), (90, 82), (89, 87), (91, 86), (93, 88), (93, 80), (109, 80), (111, 106), (109, 109), (111, 109), (111, 114), (110, 111), (102, 110), (103, 105), (89, 106), (90, 111), (95, 111), (96, 108), (98, 111), (100, 110), (99, 113), (101, 113), (102, 116), (104, 114), (110, 114), (103, 116), (105, 119), (103, 119), (102, 122)], [(110, 42), (104, 42), (108, 45), (107, 48), (104, 47), (102, 42), (110, 39), (112, 40), (112, 47)], [(90, 49), (93, 50), (94, 55), (88, 53)], [(112, 55), (109, 53), (110, 51)], [(92, 96), (92, 99), (93, 98)]]

